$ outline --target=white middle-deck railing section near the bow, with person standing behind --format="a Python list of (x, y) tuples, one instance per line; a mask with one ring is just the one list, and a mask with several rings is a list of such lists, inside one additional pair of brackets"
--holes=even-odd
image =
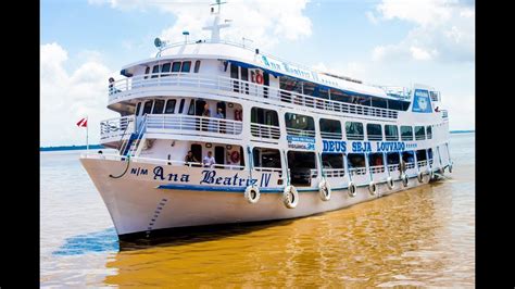
[(147, 115), (148, 133), (153, 133), (152, 129), (171, 129), (239, 135), (242, 127), (242, 122), (225, 118), (173, 114)]

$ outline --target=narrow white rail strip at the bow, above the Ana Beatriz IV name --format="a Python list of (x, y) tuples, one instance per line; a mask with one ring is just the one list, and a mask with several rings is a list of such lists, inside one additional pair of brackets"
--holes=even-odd
[(154, 158), (142, 158), (142, 156), (126, 156), (120, 154), (100, 154), (100, 153), (83, 153), (80, 155), (83, 159), (97, 159), (97, 160), (110, 160), (110, 161), (127, 161), (130, 159), (130, 162), (136, 163), (148, 163), (148, 164), (161, 164), (161, 165), (173, 165), (173, 166), (189, 166), (189, 167), (209, 167), (209, 168), (223, 168), (223, 169), (243, 169), (243, 165), (234, 165), (234, 164), (213, 164), (211, 166), (203, 165), (198, 162), (185, 162), (178, 160), (165, 160), (165, 159), (154, 159)]

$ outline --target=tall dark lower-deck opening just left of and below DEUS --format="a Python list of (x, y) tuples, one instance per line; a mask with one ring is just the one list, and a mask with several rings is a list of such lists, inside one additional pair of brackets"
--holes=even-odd
[(289, 151), (287, 158), (291, 185), (311, 185), (311, 178), (317, 175), (316, 171), (312, 172), (312, 169), (316, 169), (315, 153)]

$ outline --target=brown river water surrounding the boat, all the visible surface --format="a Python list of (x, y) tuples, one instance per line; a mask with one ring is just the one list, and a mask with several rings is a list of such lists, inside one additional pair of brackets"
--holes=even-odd
[(445, 180), (339, 211), (120, 243), (79, 152), (40, 155), (42, 287), (475, 287), (475, 135)]

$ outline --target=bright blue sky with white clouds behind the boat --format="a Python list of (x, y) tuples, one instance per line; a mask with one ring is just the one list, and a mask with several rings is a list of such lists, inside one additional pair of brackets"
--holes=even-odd
[[(206, 39), (204, 0), (41, 0), (40, 146), (99, 143), (108, 79), (155, 55), (155, 37)], [(475, 129), (475, 2), (226, 0), (223, 39), (365, 83), (441, 91), (450, 129)]]

